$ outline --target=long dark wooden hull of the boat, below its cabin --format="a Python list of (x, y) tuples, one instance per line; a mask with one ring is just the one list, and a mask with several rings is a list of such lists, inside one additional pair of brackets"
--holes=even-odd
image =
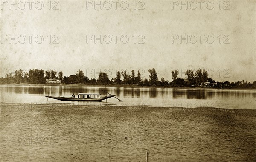
[(114, 96), (115, 95), (109, 95), (109, 96), (104, 96), (99, 98), (69, 98), (69, 97), (56, 97), (56, 96), (45, 95), (44, 97), (53, 98), (60, 101), (102, 101)]

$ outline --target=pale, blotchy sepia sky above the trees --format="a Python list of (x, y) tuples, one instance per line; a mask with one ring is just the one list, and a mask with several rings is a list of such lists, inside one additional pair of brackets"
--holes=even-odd
[[(221, 1), (221, 9), (219, 1), (211, 1), (212, 9), (208, 3), (207, 8), (208, 1), (202, 4), (202, 9), (198, 1), (193, 1), (197, 3), (194, 10), (191, 1), (187, 1), (187, 10), (186, 6), (180, 10), (177, 4), (180, 1), (171, 0), (136, 1), (136, 6), (133, 0), (119, 1), (116, 9), (113, 1), (102, 1), (102, 10), (100, 6), (94, 9), (94, 0), (56, 1), (59, 4), (51, 1), (50, 10), (49, 1), (41, 2), (44, 4), (41, 10), (35, 8), (35, 3), (31, 10), (29, 3), (25, 8), (24, 4), (17, 4), (16, 10), (1, 1), (1, 77), (6, 69), (13, 73), (15, 69), (37, 68), (58, 69), (65, 76), (81, 69), (89, 78), (97, 78), (102, 69), (110, 79), (115, 77), (116, 69), (127, 69), (129, 74), (131, 70), (140, 70), (149, 78), (148, 69), (155, 68), (159, 79), (172, 81), (172, 69), (184, 73), (186, 69), (202, 68), (215, 81), (256, 80), (256, 1), (226, 1), (229, 4)], [(128, 9), (122, 9), (121, 3), (122, 8), (128, 3)], [(56, 5), (59, 9), (53, 10)], [(225, 6), (230, 9), (224, 10)], [(15, 35), (17, 44), (15, 40), (10, 43), (9, 38)], [(28, 35), (34, 35), (31, 44)], [(35, 42), (38, 35), (44, 38), (41, 44)], [(95, 44), (89, 35), (97, 38), (102, 35), (103, 42), (97, 40)], [(116, 43), (113, 35), (119, 35)], [(123, 35), (129, 38), (126, 44), (120, 41)], [(180, 43), (176, 37), (180, 35), (183, 38), (187, 35), (187, 44), (186, 40)], [(202, 43), (198, 35), (204, 35)], [(126, 41), (126, 37), (122, 40)], [(212, 37), (214, 41), (209, 43)], [(59, 43), (53, 44), (56, 38)], [(138, 43), (141, 39), (144, 44)], [(229, 44), (224, 44), (225, 40)]]

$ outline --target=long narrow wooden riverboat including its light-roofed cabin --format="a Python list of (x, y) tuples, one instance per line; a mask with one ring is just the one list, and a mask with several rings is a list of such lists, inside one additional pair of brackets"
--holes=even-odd
[(48, 98), (53, 98), (56, 100), (61, 100), (61, 101), (102, 101), (107, 98), (115, 97), (115, 95), (107, 95), (107, 96), (102, 96), (99, 93), (79, 93), (77, 98), (71, 98), (71, 97), (57, 97), (57, 96), (50, 96), (50, 95), (45, 95), (45, 97)]

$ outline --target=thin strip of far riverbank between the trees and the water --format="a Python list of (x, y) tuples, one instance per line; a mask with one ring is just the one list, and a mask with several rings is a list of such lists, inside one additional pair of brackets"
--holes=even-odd
[(175, 89), (219, 89), (219, 90), (256, 90), (255, 88), (214, 88), (214, 87), (185, 87), (185, 86), (138, 86), (138, 85), (127, 85), (127, 84), (107, 84), (107, 85), (101, 85), (101, 84), (17, 84), (17, 83), (9, 83), (9, 84), (2, 84), (0, 85), (13, 85), (13, 86), (20, 86), (20, 85), (26, 85), (26, 86), (61, 86), (61, 87), (124, 87), (124, 88), (175, 88)]

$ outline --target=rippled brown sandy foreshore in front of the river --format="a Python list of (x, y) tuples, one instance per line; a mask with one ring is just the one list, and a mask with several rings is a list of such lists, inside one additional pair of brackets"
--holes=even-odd
[(255, 162), (256, 110), (1, 104), (0, 162)]

